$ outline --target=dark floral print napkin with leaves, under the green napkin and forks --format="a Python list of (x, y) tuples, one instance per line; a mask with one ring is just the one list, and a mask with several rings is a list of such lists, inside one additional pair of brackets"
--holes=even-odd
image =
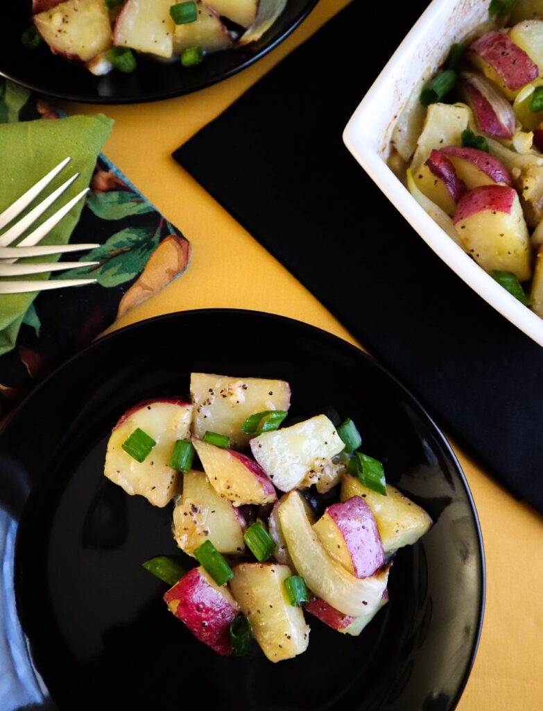
[[(46, 100), (0, 80), (0, 122), (58, 117)], [(190, 242), (103, 155), (90, 188), (70, 242), (99, 242), (80, 257), (99, 264), (51, 278), (92, 276), (97, 284), (38, 294), (13, 348), (0, 355), (0, 415), (104, 328), (182, 274), (190, 262)], [(74, 255), (62, 260), (73, 261)]]

